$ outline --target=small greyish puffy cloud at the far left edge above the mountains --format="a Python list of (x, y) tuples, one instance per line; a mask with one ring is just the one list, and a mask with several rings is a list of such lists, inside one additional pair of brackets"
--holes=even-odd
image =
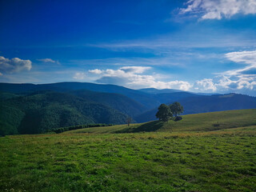
[(31, 70), (32, 62), (20, 58), (4, 58), (0, 56), (0, 71), (3, 73), (15, 73), (22, 70)]

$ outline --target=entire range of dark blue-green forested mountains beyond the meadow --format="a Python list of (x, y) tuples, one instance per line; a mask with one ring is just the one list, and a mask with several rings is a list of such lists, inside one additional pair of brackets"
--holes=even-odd
[(45, 133), (60, 126), (155, 120), (161, 103), (180, 102), (184, 114), (256, 108), (243, 94), (195, 94), (154, 88), (132, 90), (88, 82), (0, 83), (0, 135)]

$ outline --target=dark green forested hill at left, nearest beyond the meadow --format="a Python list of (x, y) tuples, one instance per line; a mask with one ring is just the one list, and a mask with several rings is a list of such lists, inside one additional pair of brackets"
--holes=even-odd
[(61, 126), (126, 122), (126, 114), (72, 94), (42, 91), (1, 102), (0, 134), (38, 134)]

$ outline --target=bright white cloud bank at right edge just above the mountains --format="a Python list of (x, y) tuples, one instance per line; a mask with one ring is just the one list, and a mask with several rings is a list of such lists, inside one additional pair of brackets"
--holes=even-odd
[(236, 70), (223, 71), (212, 79), (197, 81), (194, 83), (194, 89), (247, 93), (256, 96), (256, 50), (230, 52), (225, 56), (230, 61), (245, 66)]

